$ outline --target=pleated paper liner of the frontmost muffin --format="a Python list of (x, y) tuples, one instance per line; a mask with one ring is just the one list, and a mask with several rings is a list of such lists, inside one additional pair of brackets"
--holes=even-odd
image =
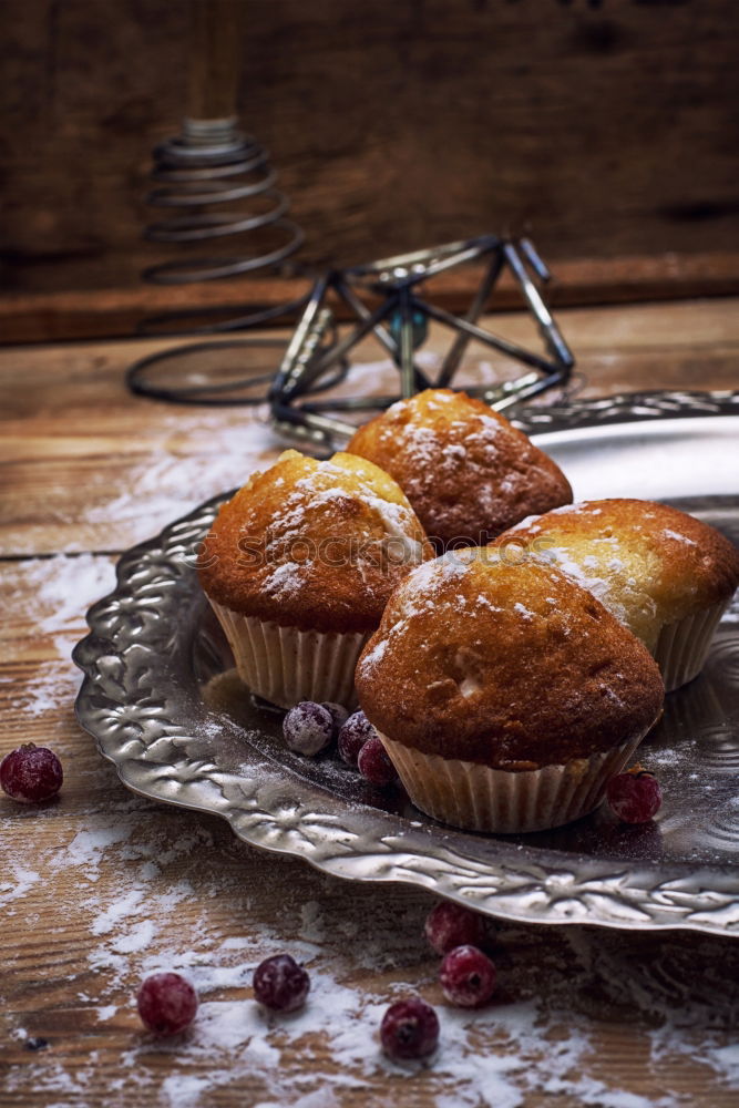
[(551, 830), (592, 812), (645, 733), (565, 766), (521, 772), (425, 755), (380, 738), (410, 799), (427, 815), (468, 831), (512, 834)]

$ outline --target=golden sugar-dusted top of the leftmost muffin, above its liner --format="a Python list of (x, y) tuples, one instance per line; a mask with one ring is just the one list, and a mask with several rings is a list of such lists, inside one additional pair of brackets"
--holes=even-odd
[(377, 465), (288, 450), (222, 506), (198, 574), (211, 599), (242, 615), (368, 632), (393, 587), (432, 556), (402, 490)]

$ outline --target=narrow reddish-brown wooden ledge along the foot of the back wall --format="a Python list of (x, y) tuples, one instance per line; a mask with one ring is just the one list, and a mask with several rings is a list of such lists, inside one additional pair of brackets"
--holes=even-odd
[[(377, 250), (372, 249), (371, 254), (355, 260), (366, 261), (376, 256)], [(193, 315), (201, 309), (218, 308), (222, 309), (218, 320), (234, 319), (257, 306), (264, 308), (297, 300), (312, 284), (308, 276), (253, 277), (197, 288), (158, 287), (141, 281), (143, 265), (144, 260), (135, 254), (117, 258), (111, 267), (70, 261), (64, 269), (62, 289), (1, 295), (3, 341), (129, 338), (146, 326), (148, 317), (181, 311), (189, 315), (186, 322), (177, 326), (193, 328), (207, 321)], [(465, 310), (479, 276), (474, 266), (442, 275), (429, 295), (451, 311)], [(554, 278), (548, 298), (557, 309), (729, 296), (739, 293), (739, 253), (636, 255), (586, 260), (562, 258), (554, 266)], [(491, 309), (511, 310), (521, 306), (517, 286), (504, 274)], [(347, 317), (342, 304), (333, 305), (333, 309), (340, 319)], [(172, 329), (173, 325), (168, 325), (168, 330)]]

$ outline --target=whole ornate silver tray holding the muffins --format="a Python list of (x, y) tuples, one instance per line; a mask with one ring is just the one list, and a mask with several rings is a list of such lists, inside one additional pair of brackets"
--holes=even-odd
[[(664, 500), (739, 542), (739, 392), (654, 393), (519, 421), (577, 499)], [(640, 748), (665, 802), (623, 828), (602, 810), (547, 833), (487, 837), (434, 823), (330, 756), (281, 746), (281, 712), (252, 701), (193, 568), (209, 501), (124, 554), (117, 587), (74, 650), (80, 722), (135, 792), (215, 812), (242, 839), (341, 878), (410, 882), (540, 923), (739, 935), (739, 607), (704, 674), (667, 698)]]

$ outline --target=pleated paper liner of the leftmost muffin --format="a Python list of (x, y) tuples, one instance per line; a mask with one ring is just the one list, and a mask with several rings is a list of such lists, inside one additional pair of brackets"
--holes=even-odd
[(253, 693), (291, 708), (301, 700), (357, 704), (355, 668), (369, 634), (298, 630), (245, 616), (211, 601), (238, 676)]

